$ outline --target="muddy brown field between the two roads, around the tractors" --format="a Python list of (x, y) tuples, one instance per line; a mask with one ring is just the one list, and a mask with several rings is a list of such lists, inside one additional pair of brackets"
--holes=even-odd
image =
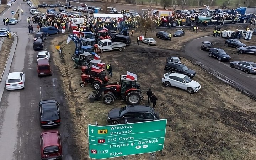
[[(177, 88), (165, 88), (161, 84), (165, 60), (176, 55), (159, 47), (169, 46), (177, 51), (186, 41), (211, 34), (212, 31), (186, 31), (185, 36), (176, 41), (158, 40), (158, 46), (136, 46), (132, 44), (123, 52), (106, 52), (100, 54), (103, 63), (113, 67), (111, 82), (119, 81), (119, 74), (127, 71), (138, 75), (142, 85), (143, 96), (151, 88), (158, 97), (156, 111), (160, 118), (167, 119), (165, 146), (156, 154), (157, 160), (215, 160), (215, 159), (256, 159), (256, 102), (226, 85), (213, 75), (208, 74), (190, 60), (182, 58), (182, 62), (197, 72), (194, 78), (202, 85), (196, 94), (188, 94)], [(155, 32), (149, 34), (155, 38)], [(122, 107), (123, 101), (115, 101), (113, 105), (105, 105), (102, 101), (88, 103), (87, 97), (93, 91), (90, 85), (80, 87), (80, 69), (74, 69), (71, 55), (75, 44), (66, 44), (68, 34), (50, 36), (47, 45), (53, 52), (53, 62), (59, 67), (62, 87), (69, 101), (75, 128), (79, 134), (74, 137), (81, 160), (88, 159), (87, 124), (107, 125), (109, 110)], [(50, 39), (52, 41), (50, 42)], [(134, 42), (133, 42), (134, 43)], [(63, 56), (54, 46), (60, 45)], [(167, 48), (168, 49), (168, 48)], [(144, 100), (141, 104), (144, 104)], [(146, 160), (149, 154), (129, 156), (130, 160)], [(121, 159), (121, 158), (115, 158)]]

